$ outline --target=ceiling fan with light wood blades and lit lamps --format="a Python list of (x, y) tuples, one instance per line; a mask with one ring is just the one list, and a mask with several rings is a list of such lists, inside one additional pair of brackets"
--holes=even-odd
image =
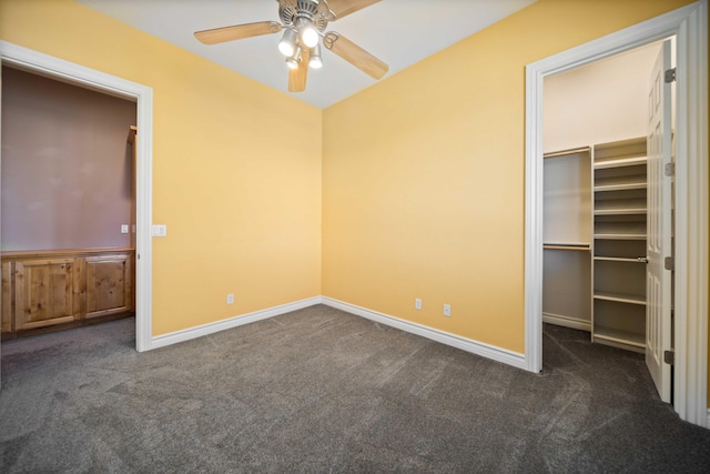
[(329, 21), (338, 20), (355, 11), (377, 3), (379, 0), (276, 0), (278, 17), (276, 21), (235, 24), (195, 32), (195, 38), (204, 44), (241, 40), (262, 34), (284, 36), (278, 50), (286, 57), (288, 71), (288, 91), (302, 92), (306, 89), (308, 67), (321, 69), (321, 43), (373, 79), (381, 79), (389, 67), (347, 38), (335, 31), (325, 32)]

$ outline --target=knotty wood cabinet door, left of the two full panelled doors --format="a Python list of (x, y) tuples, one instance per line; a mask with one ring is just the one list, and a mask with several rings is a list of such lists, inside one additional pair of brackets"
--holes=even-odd
[(72, 262), (72, 259), (53, 259), (16, 263), (17, 331), (78, 319)]

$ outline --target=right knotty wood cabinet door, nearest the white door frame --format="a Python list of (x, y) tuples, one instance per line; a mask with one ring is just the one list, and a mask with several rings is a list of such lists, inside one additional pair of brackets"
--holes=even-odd
[(133, 260), (129, 253), (85, 258), (87, 314), (99, 317), (133, 311)]

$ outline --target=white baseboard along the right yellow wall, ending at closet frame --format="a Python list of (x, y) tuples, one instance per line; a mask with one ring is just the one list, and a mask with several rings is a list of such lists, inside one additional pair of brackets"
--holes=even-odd
[(518, 352), (496, 347), (494, 345), (462, 337), (456, 334), (447, 333), (445, 331), (435, 330), (422, 324), (400, 320), (388, 314), (379, 313), (377, 311), (368, 310), (355, 304), (345, 303), (332, 297), (323, 296), (322, 300), (323, 304), (341, 311), (345, 311), (346, 313), (355, 314), (356, 316), (362, 316), (412, 334), (420, 335), (423, 337), (430, 339), (432, 341), (450, 345), (452, 347), (460, 349), (462, 351), (470, 352), (473, 354), (480, 355), (481, 357), (501, 362), (514, 367), (524, 370), (526, 369), (525, 356), (524, 354), (520, 354)]

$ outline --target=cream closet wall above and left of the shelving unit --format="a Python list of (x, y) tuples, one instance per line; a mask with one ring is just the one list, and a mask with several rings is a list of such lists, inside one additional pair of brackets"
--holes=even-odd
[[(591, 330), (592, 149), (646, 135), (648, 78), (659, 48), (545, 80), (545, 322)], [(574, 151), (559, 153), (565, 150)]]

